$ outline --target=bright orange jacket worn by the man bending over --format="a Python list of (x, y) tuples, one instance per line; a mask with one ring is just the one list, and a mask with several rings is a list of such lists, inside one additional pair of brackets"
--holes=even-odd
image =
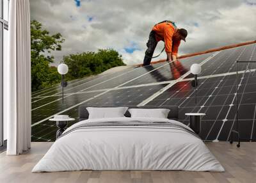
[(157, 42), (160, 40), (164, 42), (165, 51), (172, 52), (173, 55), (177, 56), (180, 40), (173, 38), (177, 29), (171, 23), (163, 22), (154, 26), (152, 30), (156, 33), (155, 36)]

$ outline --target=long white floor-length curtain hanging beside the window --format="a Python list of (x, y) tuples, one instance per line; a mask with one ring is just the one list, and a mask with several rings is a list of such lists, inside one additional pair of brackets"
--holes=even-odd
[(29, 0), (11, 0), (8, 60), (4, 62), (4, 120), (8, 155), (31, 147)]

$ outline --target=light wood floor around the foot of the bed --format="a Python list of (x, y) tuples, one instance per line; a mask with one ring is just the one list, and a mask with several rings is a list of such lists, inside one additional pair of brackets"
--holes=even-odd
[(195, 171), (70, 171), (31, 173), (31, 169), (51, 147), (52, 143), (32, 143), (28, 152), (19, 156), (0, 154), (0, 182), (255, 182), (256, 143), (206, 143), (224, 166), (225, 172)]

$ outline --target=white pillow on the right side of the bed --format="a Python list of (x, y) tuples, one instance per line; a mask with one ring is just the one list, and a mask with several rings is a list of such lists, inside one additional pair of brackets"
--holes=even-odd
[(129, 109), (132, 118), (167, 118), (170, 109)]

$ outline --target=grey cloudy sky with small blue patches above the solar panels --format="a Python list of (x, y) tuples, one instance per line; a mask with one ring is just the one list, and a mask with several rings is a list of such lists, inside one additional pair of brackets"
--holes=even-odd
[[(162, 20), (188, 30), (179, 55), (256, 40), (256, 0), (30, 0), (31, 20), (65, 38), (56, 62), (76, 52), (113, 48), (142, 63), (148, 34)], [(155, 54), (163, 49), (159, 42)], [(163, 53), (159, 58), (166, 58)]]

